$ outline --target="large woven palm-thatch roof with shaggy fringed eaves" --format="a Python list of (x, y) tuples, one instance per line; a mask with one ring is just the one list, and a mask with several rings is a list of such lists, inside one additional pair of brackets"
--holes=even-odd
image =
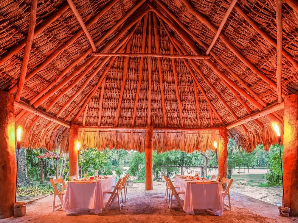
[[(99, 53), (206, 55), (231, 0), (77, 0)], [(0, 3), (0, 89), (16, 94), (31, 0)], [(283, 95), (298, 91), (298, 6), (282, 8)], [(92, 42), (92, 41), (91, 41)], [(275, 0), (239, 0), (210, 59), (94, 56), (67, 1), (38, 1), (21, 100), (80, 126), (205, 128), (228, 125), (277, 101)], [(68, 128), (15, 106), (23, 146), (67, 150)], [(283, 110), (229, 129), (243, 149), (276, 142), (271, 120)], [(81, 130), (83, 147), (144, 151), (145, 131)], [(159, 152), (206, 150), (218, 130), (155, 131)]]

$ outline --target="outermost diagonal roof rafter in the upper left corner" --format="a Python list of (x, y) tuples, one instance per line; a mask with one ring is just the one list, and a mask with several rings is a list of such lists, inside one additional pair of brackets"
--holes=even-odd
[[(52, 24), (57, 18), (59, 18), (63, 12), (65, 12), (69, 8), (69, 5), (64, 2), (59, 5), (58, 10), (53, 10), (53, 12), (48, 16), (46, 20), (40, 23), (38, 26), (35, 27), (33, 37), (38, 36), (41, 34), (49, 25)], [(0, 66), (3, 65), (7, 60), (9, 60), (13, 55), (15, 55), (18, 51), (20, 51), (26, 45), (26, 39), (22, 40), (20, 43), (12, 46), (11, 48), (7, 49), (7, 51), (1, 55), (0, 58)]]

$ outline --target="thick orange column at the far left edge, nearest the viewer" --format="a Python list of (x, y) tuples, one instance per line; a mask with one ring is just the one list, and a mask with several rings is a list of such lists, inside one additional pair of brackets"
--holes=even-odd
[(16, 184), (13, 95), (0, 91), (0, 219), (14, 215)]

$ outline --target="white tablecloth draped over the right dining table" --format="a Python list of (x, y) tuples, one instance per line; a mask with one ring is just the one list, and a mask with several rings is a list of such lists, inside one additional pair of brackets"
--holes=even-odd
[(183, 210), (187, 214), (194, 215), (193, 209), (213, 209), (213, 214), (222, 215), (224, 201), (219, 182), (196, 184), (176, 176), (174, 185), (185, 191), (180, 197), (184, 200)]

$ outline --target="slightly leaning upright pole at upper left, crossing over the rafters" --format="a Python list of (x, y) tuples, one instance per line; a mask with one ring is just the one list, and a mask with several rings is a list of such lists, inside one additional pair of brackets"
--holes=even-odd
[(32, 45), (32, 41), (34, 38), (34, 29), (35, 29), (35, 24), (36, 24), (36, 10), (37, 10), (37, 0), (32, 0), (31, 10), (30, 10), (29, 29), (28, 29), (25, 52), (24, 52), (24, 57), (23, 57), (22, 70), (21, 70), (21, 75), (20, 75), (20, 79), (18, 82), (18, 91), (15, 95), (16, 101), (20, 101), (23, 87), (25, 84), (25, 78), (26, 78), (26, 73), (27, 73), (31, 45)]

